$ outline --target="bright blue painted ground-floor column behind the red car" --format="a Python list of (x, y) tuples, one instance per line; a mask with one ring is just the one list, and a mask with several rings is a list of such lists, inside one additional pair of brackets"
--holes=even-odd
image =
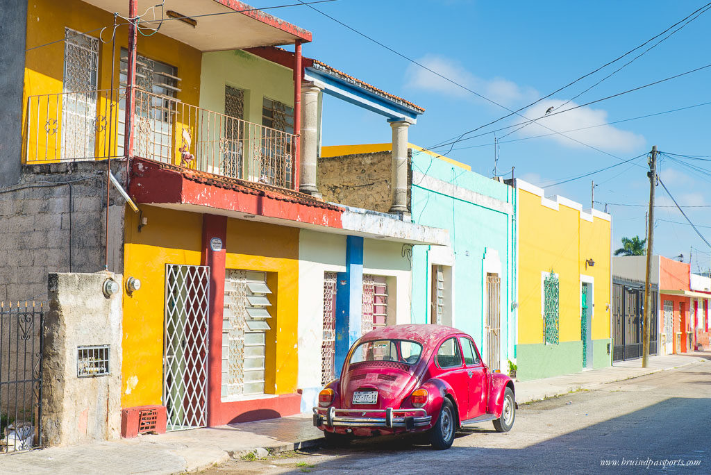
[(348, 349), (360, 338), (363, 321), (363, 237), (346, 237), (346, 272), (336, 280), (336, 378)]

